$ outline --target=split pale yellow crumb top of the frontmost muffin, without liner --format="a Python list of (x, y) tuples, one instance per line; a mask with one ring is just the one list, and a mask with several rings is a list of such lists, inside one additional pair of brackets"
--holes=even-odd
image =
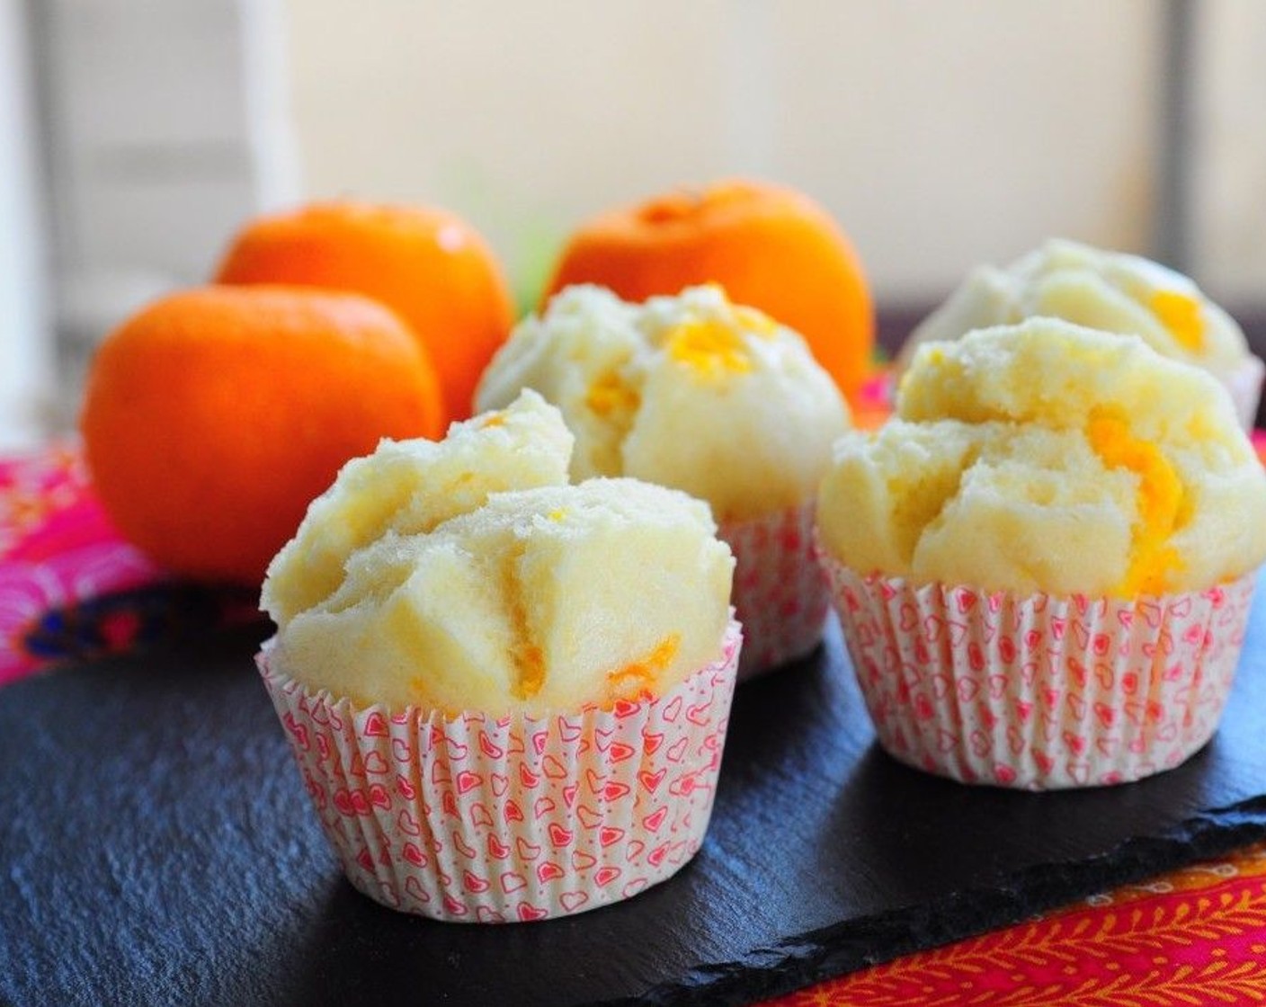
[(532, 393), (424, 445), (349, 464), (273, 561), (280, 670), (501, 716), (661, 694), (720, 656), (734, 561), (705, 504), (565, 485), (570, 434)]

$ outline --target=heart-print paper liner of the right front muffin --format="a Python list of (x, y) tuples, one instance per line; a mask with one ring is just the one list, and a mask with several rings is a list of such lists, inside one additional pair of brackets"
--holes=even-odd
[(1204, 746), (1256, 579), (1137, 600), (1020, 597), (824, 561), (884, 749), (963, 783), (1031, 790), (1128, 783)]

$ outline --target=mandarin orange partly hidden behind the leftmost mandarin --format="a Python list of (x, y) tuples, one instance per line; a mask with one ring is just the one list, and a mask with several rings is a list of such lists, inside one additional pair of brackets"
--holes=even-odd
[(251, 220), (215, 275), (223, 284), (301, 284), (382, 301), (430, 355), (444, 421), (471, 414), (475, 385), (514, 322), (492, 250), (447, 210), (313, 203)]

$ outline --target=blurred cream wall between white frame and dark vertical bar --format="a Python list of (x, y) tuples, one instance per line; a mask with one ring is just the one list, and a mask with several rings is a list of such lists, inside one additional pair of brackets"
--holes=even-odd
[[(466, 213), (518, 272), (611, 203), (799, 185), (881, 298), (1060, 233), (1146, 250), (1152, 0), (287, 0), (308, 190)], [(527, 236), (527, 237), (524, 237)]]

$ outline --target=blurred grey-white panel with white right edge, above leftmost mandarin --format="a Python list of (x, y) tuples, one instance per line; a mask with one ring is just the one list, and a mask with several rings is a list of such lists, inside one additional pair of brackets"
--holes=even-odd
[(57, 424), (96, 343), (298, 194), (280, 0), (41, 0)]

